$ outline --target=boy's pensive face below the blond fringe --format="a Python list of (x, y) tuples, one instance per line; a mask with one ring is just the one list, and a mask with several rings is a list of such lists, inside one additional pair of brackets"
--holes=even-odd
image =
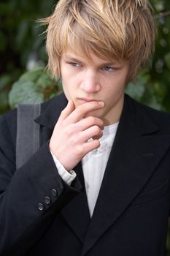
[(103, 119), (105, 125), (114, 124), (120, 118), (123, 108), (124, 89), (128, 78), (129, 65), (106, 61), (91, 54), (92, 62), (67, 51), (61, 58), (61, 78), (67, 99), (75, 107), (88, 101), (103, 101), (104, 108), (88, 116)]

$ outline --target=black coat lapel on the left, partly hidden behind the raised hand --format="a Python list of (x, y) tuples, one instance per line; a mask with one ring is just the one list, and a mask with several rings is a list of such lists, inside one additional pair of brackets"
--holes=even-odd
[[(42, 143), (50, 139), (56, 122), (63, 108), (66, 107), (67, 100), (64, 94), (60, 94), (53, 99), (50, 104), (42, 105), (42, 114), (36, 118), (36, 122), (42, 127)], [(72, 182), (72, 187), (77, 187), (77, 182), (82, 184), (81, 192), (74, 197), (61, 211), (64, 219), (72, 228), (74, 234), (81, 242), (84, 241), (85, 233), (90, 222), (88, 211), (88, 200), (85, 193), (85, 183), (82, 173), (81, 162), (74, 168), (77, 178)]]

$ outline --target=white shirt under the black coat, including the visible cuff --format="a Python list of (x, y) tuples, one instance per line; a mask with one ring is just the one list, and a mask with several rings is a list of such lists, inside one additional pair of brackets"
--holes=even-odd
[[(101, 146), (90, 151), (82, 158), (82, 170), (85, 179), (85, 189), (88, 198), (90, 217), (93, 215), (98, 193), (101, 188), (101, 182), (104, 177), (104, 171), (107, 166), (113, 141), (115, 140), (117, 127), (118, 122), (104, 127), (103, 136), (99, 139)], [(76, 173), (74, 170), (68, 172), (53, 154), (52, 156), (55, 165), (58, 168), (59, 175), (63, 178), (63, 181), (71, 185), (72, 181), (76, 177)]]

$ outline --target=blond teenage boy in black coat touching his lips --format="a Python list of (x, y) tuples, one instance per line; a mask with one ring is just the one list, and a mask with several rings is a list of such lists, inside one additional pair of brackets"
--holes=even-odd
[(17, 170), (17, 110), (1, 116), (1, 255), (165, 255), (169, 114), (123, 92), (152, 53), (150, 4), (61, 0), (44, 23), (64, 94), (42, 104), (41, 146)]

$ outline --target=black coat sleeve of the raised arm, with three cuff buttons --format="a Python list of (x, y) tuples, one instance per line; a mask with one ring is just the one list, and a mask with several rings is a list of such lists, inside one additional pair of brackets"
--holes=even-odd
[(15, 127), (0, 117), (0, 255), (12, 248), (23, 255), (22, 244), (25, 250), (33, 246), (54, 214), (80, 193), (79, 181), (76, 188), (62, 181), (47, 143), (16, 170)]

